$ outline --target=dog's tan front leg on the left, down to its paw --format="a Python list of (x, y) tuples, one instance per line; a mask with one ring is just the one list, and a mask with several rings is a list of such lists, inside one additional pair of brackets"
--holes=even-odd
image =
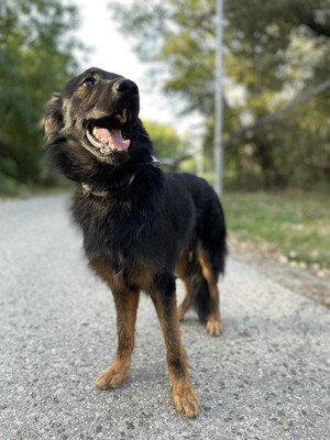
[(114, 362), (95, 381), (98, 388), (117, 388), (130, 374), (131, 354), (134, 349), (134, 332), (139, 292), (124, 286), (112, 286), (117, 310), (118, 351)]

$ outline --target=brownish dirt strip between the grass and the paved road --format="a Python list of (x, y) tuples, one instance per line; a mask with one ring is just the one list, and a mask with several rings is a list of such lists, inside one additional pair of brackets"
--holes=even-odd
[(294, 293), (330, 307), (330, 270), (290, 261), (266, 244), (254, 246), (233, 237), (229, 238), (229, 252)]

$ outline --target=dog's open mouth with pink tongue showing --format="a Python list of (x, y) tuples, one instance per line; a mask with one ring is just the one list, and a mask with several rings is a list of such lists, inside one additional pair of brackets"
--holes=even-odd
[(131, 143), (129, 139), (122, 136), (121, 130), (105, 129), (97, 125), (91, 131), (87, 129), (87, 139), (101, 154), (125, 152)]

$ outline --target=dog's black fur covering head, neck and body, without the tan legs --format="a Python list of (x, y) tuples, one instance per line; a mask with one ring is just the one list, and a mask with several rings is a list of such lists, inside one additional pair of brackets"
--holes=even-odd
[[(168, 283), (179, 256), (189, 253), (188, 285), (205, 321), (210, 312), (208, 286), (197, 249), (208, 256), (218, 279), (227, 252), (221, 205), (204, 179), (164, 173), (153, 165), (153, 145), (138, 118), (135, 85), (129, 81), (129, 91), (118, 91), (122, 80), (92, 68), (54, 95), (44, 118), (48, 155), (64, 176), (77, 183), (73, 212), (89, 261), (101, 256), (138, 290), (144, 286), (132, 273), (141, 261), (162, 274), (156, 284)], [(124, 111), (127, 118), (120, 121)], [(128, 151), (101, 155), (86, 138), (95, 123), (121, 130), (123, 139), (131, 140)]]

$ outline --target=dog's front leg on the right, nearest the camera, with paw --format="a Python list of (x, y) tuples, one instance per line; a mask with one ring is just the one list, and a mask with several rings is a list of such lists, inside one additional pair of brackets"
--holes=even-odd
[(200, 404), (190, 382), (186, 352), (180, 342), (175, 279), (172, 274), (156, 276), (151, 297), (163, 330), (174, 405), (176, 410), (184, 416), (197, 417), (200, 413)]

